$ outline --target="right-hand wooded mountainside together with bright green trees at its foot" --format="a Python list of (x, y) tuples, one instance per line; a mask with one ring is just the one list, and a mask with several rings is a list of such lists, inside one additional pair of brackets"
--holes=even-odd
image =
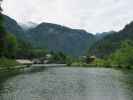
[(95, 64), (107, 67), (133, 68), (133, 22), (113, 32), (89, 48), (88, 56), (97, 57)]

